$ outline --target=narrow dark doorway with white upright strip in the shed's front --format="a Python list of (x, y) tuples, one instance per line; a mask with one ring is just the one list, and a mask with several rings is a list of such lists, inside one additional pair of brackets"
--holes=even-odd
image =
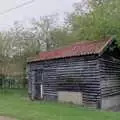
[(34, 98), (43, 99), (43, 71), (42, 70), (35, 71), (34, 90), (35, 90)]

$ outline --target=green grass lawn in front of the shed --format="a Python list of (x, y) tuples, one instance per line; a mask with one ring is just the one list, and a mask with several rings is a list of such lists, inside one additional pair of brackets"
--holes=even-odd
[(0, 115), (17, 120), (120, 120), (119, 112), (90, 110), (53, 102), (32, 102), (25, 90), (0, 90)]

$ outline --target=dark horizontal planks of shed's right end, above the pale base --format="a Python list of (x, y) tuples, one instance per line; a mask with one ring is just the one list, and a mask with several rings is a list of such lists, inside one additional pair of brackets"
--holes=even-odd
[(120, 95), (120, 60), (110, 56), (100, 58), (102, 97)]

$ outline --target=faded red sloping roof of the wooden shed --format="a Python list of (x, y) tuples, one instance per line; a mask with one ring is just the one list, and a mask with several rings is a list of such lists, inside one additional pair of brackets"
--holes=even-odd
[(83, 41), (75, 43), (71, 46), (60, 48), (54, 51), (41, 52), (36, 57), (30, 58), (28, 62), (51, 60), (72, 56), (82, 56), (99, 54), (112, 41), (112, 38), (101, 41)]

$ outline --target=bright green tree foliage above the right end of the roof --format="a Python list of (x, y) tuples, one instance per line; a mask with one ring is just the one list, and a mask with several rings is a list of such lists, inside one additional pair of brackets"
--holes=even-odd
[[(93, 1), (95, 2), (95, 1)], [(91, 4), (90, 4), (91, 5)], [(72, 14), (72, 34), (78, 40), (99, 40), (116, 36), (120, 40), (120, 1), (102, 1), (88, 13)]]

